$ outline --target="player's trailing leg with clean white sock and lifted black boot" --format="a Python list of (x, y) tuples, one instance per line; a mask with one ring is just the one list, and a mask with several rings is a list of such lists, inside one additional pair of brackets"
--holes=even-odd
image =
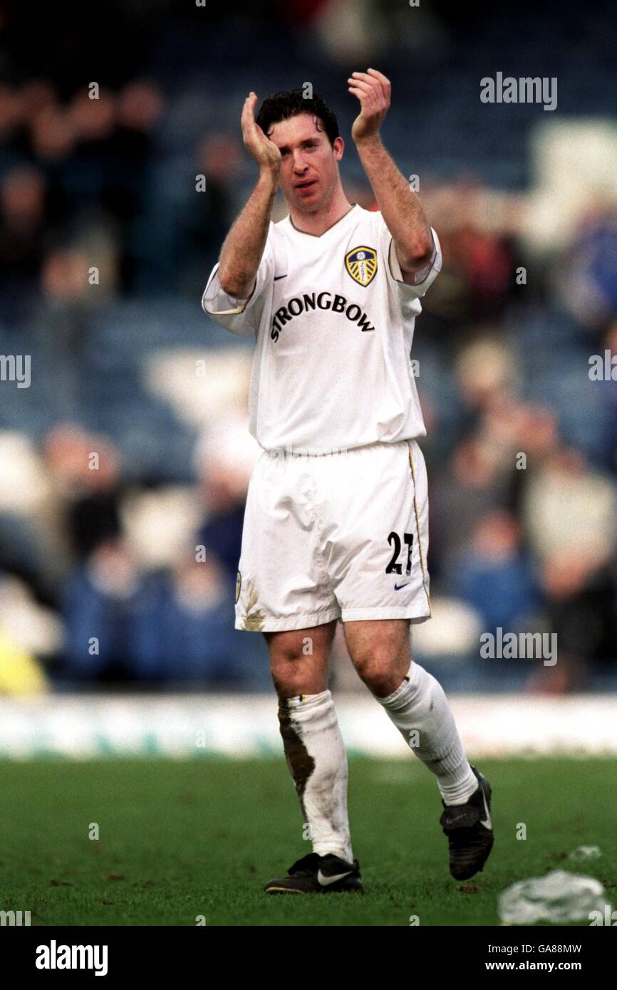
[(453, 876), (473, 876), (492, 847), (490, 786), (467, 762), (441, 684), (411, 659), (409, 620), (347, 622), (344, 629), (360, 679), (437, 778)]

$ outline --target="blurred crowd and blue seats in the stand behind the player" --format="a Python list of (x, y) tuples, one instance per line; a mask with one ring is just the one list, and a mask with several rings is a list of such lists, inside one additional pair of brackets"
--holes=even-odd
[[(262, 638), (234, 630), (250, 354), (199, 309), (253, 168), (235, 117), (185, 133), (156, 73), (89, 86), (0, 81), (0, 347), (33, 355), (30, 388), (0, 382), (0, 693), (266, 689)], [(420, 193), (444, 268), (412, 353), (435, 602), (415, 655), (462, 690), (614, 688), (617, 366), (588, 370), (617, 365), (615, 202), (538, 250), (525, 189), (498, 217), (466, 170)], [(557, 633), (559, 662), (481, 660), (499, 627)], [(340, 629), (334, 672), (357, 686)]]

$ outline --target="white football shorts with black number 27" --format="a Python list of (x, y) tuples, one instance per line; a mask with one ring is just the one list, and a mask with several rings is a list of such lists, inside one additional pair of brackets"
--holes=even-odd
[(431, 617), (429, 503), (416, 441), (262, 450), (249, 484), (236, 629)]

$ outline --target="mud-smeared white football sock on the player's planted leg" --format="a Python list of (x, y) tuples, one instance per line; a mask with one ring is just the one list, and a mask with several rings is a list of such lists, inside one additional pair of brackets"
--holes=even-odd
[(347, 753), (330, 691), (280, 700), (278, 721), (313, 851), (353, 862)]

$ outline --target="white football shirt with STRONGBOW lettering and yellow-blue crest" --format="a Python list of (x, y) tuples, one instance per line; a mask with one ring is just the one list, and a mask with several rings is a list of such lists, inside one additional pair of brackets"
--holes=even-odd
[(270, 222), (248, 300), (224, 293), (214, 266), (204, 311), (256, 340), (249, 429), (259, 446), (311, 455), (426, 436), (410, 351), (420, 297), (442, 267), (432, 233), (416, 285), (402, 279), (381, 214), (358, 204), (321, 235), (290, 216)]

